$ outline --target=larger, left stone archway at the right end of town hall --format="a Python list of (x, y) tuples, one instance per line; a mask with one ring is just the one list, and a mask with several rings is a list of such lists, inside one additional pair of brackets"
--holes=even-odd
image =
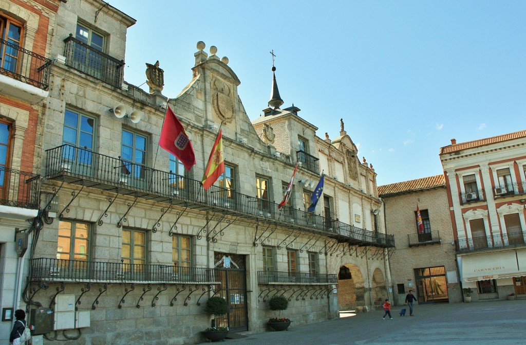
[(338, 273), (338, 307), (341, 310), (362, 311), (364, 302), (364, 283), (357, 265), (346, 263)]

